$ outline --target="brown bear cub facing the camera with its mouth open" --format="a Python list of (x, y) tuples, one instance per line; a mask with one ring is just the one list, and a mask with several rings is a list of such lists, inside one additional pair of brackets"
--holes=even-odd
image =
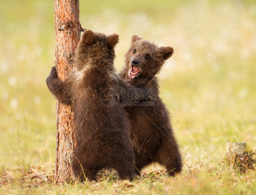
[(119, 74), (135, 88), (155, 91), (154, 106), (124, 106), (131, 121), (131, 139), (138, 175), (143, 167), (152, 162), (164, 165), (169, 175), (175, 175), (182, 169), (179, 146), (174, 138), (169, 112), (159, 97), (156, 79), (156, 74), (173, 52), (172, 47), (158, 47), (133, 35), (125, 55), (125, 67)]

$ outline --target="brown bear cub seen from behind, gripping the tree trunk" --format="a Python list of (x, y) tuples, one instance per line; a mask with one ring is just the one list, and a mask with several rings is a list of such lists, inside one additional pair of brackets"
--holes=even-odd
[(113, 66), (117, 43), (117, 34), (106, 36), (86, 30), (76, 50), (76, 67), (67, 79), (58, 79), (56, 67), (46, 79), (56, 99), (73, 107), (77, 147), (72, 154), (72, 170), (81, 181), (96, 180), (103, 168), (117, 170), (122, 180), (132, 180), (135, 175), (128, 115), (119, 101), (106, 106), (101, 99), (104, 90), (120, 94), (123, 87)]

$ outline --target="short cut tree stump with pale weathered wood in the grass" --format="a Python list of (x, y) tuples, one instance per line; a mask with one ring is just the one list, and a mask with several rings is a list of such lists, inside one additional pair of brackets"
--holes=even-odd
[(243, 163), (246, 157), (248, 156), (248, 152), (245, 151), (247, 145), (245, 142), (241, 143), (232, 143), (226, 142), (226, 159), (232, 163)]

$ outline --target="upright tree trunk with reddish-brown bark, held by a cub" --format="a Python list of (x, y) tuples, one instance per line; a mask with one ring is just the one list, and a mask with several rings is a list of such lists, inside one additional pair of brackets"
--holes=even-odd
[[(64, 80), (74, 65), (74, 50), (81, 36), (78, 0), (54, 0), (55, 65), (58, 77)], [(72, 180), (71, 155), (75, 147), (70, 106), (56, 103), (56, 165), (55, 182)]]

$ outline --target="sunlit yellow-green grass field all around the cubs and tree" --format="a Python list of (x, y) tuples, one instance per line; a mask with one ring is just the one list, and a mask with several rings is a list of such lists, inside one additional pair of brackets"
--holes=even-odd
[(225, 161), (226, 141), (256, 149), (253, 0), (81, 0), (83, 28), (119, 34), (118, 70), (133, 34), (179, 47), (159, 81), (184, 169), (169, 178), (152, 165), (134, 182), (101, 172), (98, 182), (63, 185), (53, 183), (56, 100), (45, 83), (55, 57), (53, 1), (0, 6), (0, 194), (256, 194), (256, 165), (240, 172)]

